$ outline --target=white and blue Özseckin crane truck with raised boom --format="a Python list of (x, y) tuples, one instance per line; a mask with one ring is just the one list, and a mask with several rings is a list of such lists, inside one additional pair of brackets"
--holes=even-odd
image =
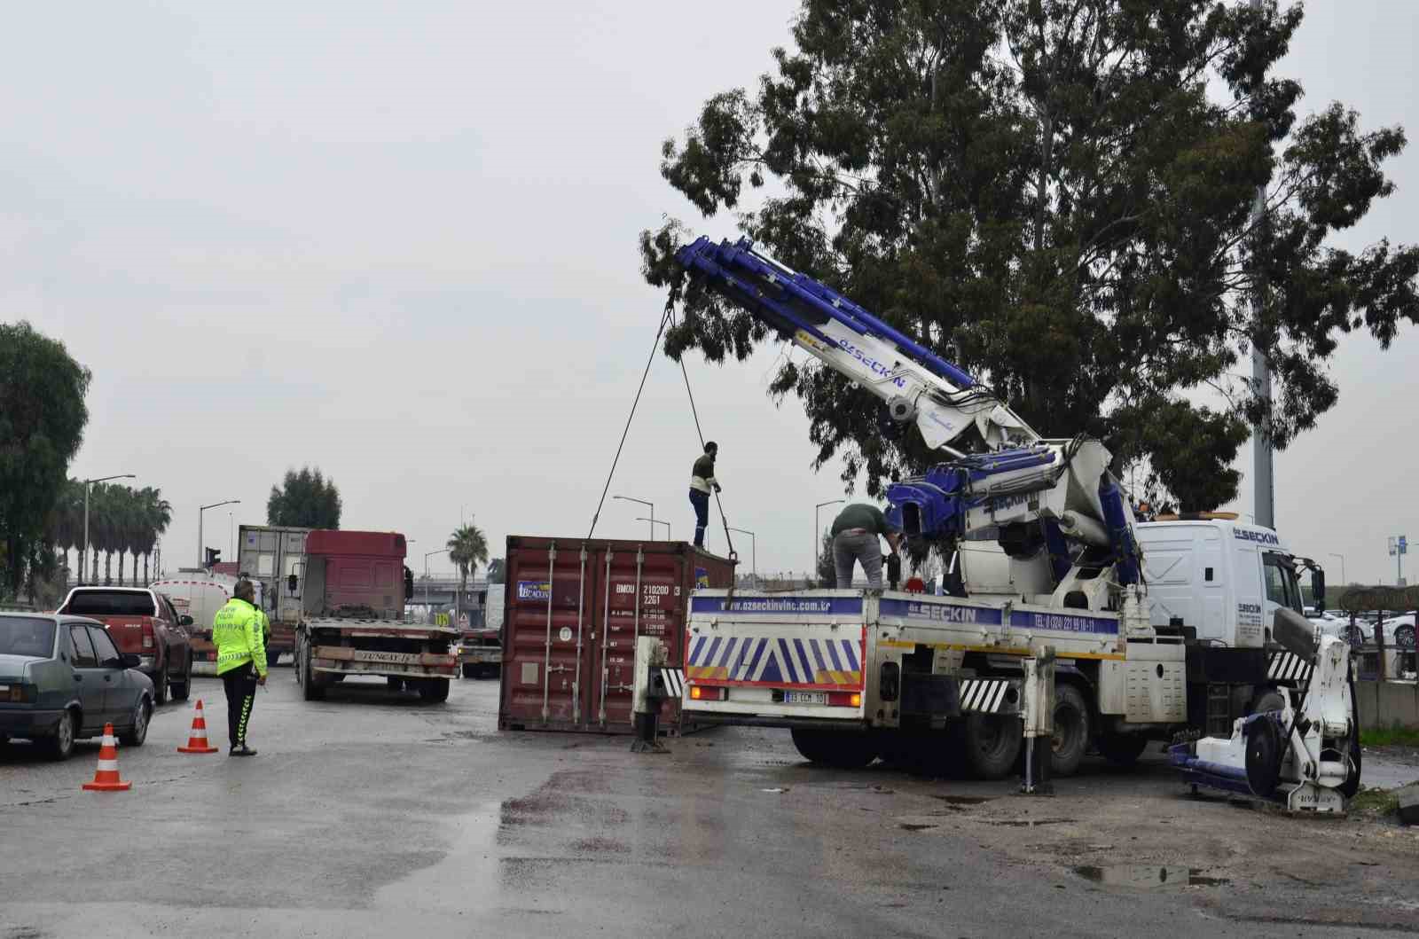
[[(887, 516), (949, 557), (952, 594), (698, 590), (687, 715), (789, 728), (816, 763), (1002, 777), (1022, 749), (1025, 662), (1051, 648), (1051, 772), (1067, 776), (1090, 748), (1127, 765), (1149, 740), (1227, 738), (1298, 701), (1314, 661), (1271, 624), (1300, 616), (1297, 572), (1320, 596), (1324, 572), (1274, 530), (1225, 515), (1135, 523), (1101, 441), (1042, 437), (965, 370), (748, 240), (700, 238), (677, 260), (941, 454), (888, 487)], [(1352, 793), (1358, 722), (1347, 732)]]

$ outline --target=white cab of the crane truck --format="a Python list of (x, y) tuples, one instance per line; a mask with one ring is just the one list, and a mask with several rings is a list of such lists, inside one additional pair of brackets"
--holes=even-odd
[(1198, 640), (1261, 648), (1279, 607), (1301, 613), (1296, 557), (1269, 528), (1213, 516), (1135, 526), (1154, 626), (1175, 620)]

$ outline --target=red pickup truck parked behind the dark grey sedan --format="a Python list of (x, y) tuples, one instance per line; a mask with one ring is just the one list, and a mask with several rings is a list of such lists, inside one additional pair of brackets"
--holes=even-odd
[(109, 627), (121, 652), (139, 657), (139, 671), (153, 679), (153, 704), (186, 701), (192, 689), (192, 617), (146, 587), (74, 587), (58, 613), (87, 616)]

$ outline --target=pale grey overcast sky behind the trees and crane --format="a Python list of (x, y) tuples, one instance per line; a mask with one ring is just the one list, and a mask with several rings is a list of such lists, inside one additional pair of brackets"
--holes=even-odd
[[(734, 235), (660, 179), (658, 145), (710, 95), (753, 85), (795, 9), (14, 7), (0, 318), (94, 372), (72, 475), (160, 487), (169, 569), (197, 560), (197, 505), (238, 498), (233, 521), (263, 523), (272, 482), (304, 464), (339, 485), (345, 528), (414, 539), (416, 570), (463, 515), (494, 555), (508, 535), (583, 536), (664, 302), (636, 235), (664, 213)], [(1313, 0), (1283, 65), (1303, 109), (1338, 98), (1366, 128), (1419, 135), (1416, 24), (1419, 4)], [(1399, 191), (1340, 244), (1419, 241), (1416, 148), (1388, 167)], [(1351, 580), (1392, 582), (1386, 536), (1419, 540), (1415, 339), (1342, 343), (1340, 406), (1277, 455), (1279, 528), (1332, 580), (1331, 552)], [(797, 401), (765, 396), (778, 355), (687, 359), (761, 572), (807, 567), (813, 505), (843, 495), (839, 467), (812, 471)], [(612, 492), (653, 501), (688, 539), (698, 448), (680, 372), (657, 355)], [(1236, 508), (1252, 511), (1249, 481)], [(607, 501), (596, 533), (644, 536), (637, 515)], [(224, 556), (227, 525), (227, 508), (207, 512)], [(718, 528), (710, 548), (724, 550)]]

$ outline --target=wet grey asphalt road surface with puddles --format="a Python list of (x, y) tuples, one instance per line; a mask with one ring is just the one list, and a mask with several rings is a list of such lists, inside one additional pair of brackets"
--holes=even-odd
[(192, 711), (167, 705), (119, 750), (128, 793), (81, 791), (96, 740), (62, 765), (0, 750), (0, 938), (1419, 929), (1408, 831), (1189, 800), (1156, 760), (1091, 765), (1036, 800), (809, 767), (773, 730), (666, 756), (504, 735), (492, 681), (457, 682), (446, 705), (376, 684), (307, 704), (289, 668), (258, 694), (261, 755), (241, 760), (220, 685), (194, 695), (223, 752), (179, 755)]

